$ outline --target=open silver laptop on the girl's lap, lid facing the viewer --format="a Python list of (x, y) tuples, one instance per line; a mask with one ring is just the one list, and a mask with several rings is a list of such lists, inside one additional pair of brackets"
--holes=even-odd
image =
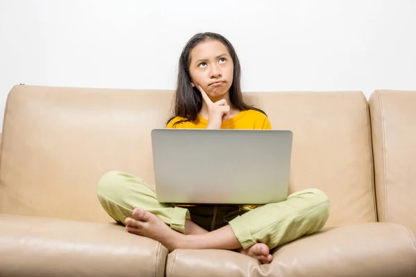
[(153, 129), (157, 200), (268, 204), (288, 197), (293, 133), (255, 129)]

